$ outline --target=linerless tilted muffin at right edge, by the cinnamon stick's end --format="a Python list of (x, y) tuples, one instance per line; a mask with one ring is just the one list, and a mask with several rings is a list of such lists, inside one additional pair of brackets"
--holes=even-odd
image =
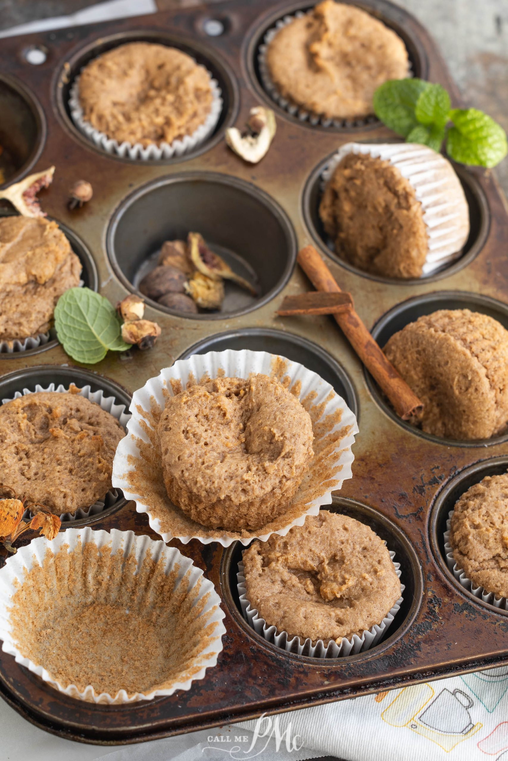
[(508, 331), (487, 314), (443, 309), (391, 336), (391, 364), (423, 402), (423, 431), (487, 439), (508, 424)]

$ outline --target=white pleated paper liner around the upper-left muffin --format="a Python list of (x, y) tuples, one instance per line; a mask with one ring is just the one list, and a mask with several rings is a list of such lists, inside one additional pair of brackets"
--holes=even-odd
[(194, 130), (192, 135), (184, 135), (183, 138), (174, 140), (171, 144), (160, 142), (145, 147), (141, 143), (129, 143), (126, 141), (119, 143), (117, 140), (109, 138), (104, 132), (99, 132), (83, 116), (83, 109), (79, 102), (79, 76), (75, 78), (70, 89), (69, 108), (71, 110), (72, 121), (83, 135), (97, 145), (97, 148), (101, 148), (106, 153), (116, 154), (121, 158), (153, 161), (183, 156), (204, 142), (212, 134), (222, 112), (222, 91), (216, 79), (212, 78), (210, 72), (208, 72), (208, 75), (212, 91), (212, 104), (206, 120)]

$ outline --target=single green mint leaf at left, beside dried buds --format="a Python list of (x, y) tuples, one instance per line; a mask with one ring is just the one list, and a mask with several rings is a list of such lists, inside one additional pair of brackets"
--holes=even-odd
[(121, 338), (113, 305), (90, 288), (69, 288), (55, 308), (56, 335), (64, 351), (77, 362), (94, 365), (107, 354), (132, 349)]

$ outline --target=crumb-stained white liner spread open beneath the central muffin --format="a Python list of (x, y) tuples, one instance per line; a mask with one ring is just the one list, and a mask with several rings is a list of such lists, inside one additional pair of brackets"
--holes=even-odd
[[(192, 521), (171, 503), (162, 478), (157, 424), (165, 399), (202, 378), (241, 377), (263, 373), (276, 377), (302, 401), (312, 419), (315, 457), (284, 514), (257, 530), (211, 529)], [(133, 394), (128, 435), (120, 441), (113, 460), (113, 486), (127, 499), (136, 501), (136, 511), (147, 513), (152, 529), (169, 542), (191, 539), (203, 544), (219, 542), (227, 547), (236, 540), (247, 545), (253, 539), (266, 541), (272, 533), (285, 536), (292, 526), (302, 526), (307, 515), (317, 515), (320, 505), (329, 505), (332, 492), (351, 478), (351, 447), (358, 425), (353, 412), (333, 387), (318, 374), (297, 362), (267, 352), (209, 352), (181, 359), (150, 378)]]

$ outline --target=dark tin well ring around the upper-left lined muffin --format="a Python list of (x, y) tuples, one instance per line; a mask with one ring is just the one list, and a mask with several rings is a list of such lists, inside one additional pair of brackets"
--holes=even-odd
[[(235, 76), (232, 74), (228, 64), (223, 59), (217, 56), (214, 49), (210, 49), (209, 46), (203, 45), (200, 41), (190, 40), (183, 35), (174, 35), (171, 33), (163, 32), (162, 30), (139, 30), (129, 33), (117, 33), (110, 34), (104, 37), (99, 37), (97, 40), (89, 43), (88, 45), (80, 48), (73, 56), (65, 60), (65, 64), (62, 66), (59, 75), (56, 77), (56, 105), (58, 113), (62, 119), (65, 127), (69, 129), (72, 134), (81, 143), (84, 143), (88, 148), (92, 148), (94, 151), (105, 153), (102, 148), (98, 148), (91, 140), (83, 135), (80, 130), (75, 126), (72, 121), (69, 98), (72, 84), (75, 78), (81, 72), (88, 62), (92, 59), (101, 56), (103, 53), (107, 53), (120, 45), (126, 43), (145, 42), (154, 43), (158, 45), (166, 45), (175, 47), (187, 55), (191, 56), (197, 63), (202, 64), (210, 72), (212, 78), (216, 79), (221, 90), (222, 97), (222, 112), (219, 116), (219, 120), (215, 129), (209, 137), (196, 145), (196, 148), (188, 151), (181, 157), (174, 157), (169, 159), (160, 160), (147, 160), (150, 164), (174, 164), (177, 161), (185, 161), (188, 158), (193, 158), (203, 151), (208, 151), (212, 145), (216, 145), (227, 126), (231, 125), (238, 110), (238, 86), (235, 81)], [(120, 158), (115, 154), (107, 153), (110, 158), (115, 158), (118, 161), (136, 161), (139, 163), (139, 159)]]

